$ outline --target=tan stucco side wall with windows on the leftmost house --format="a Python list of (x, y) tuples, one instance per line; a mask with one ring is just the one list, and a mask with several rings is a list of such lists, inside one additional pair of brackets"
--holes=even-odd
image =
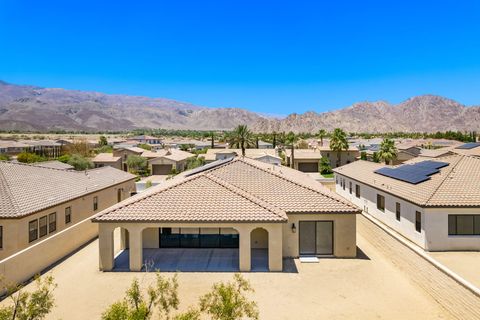
[[(4, 259), (28, 246), (32, 246), (44, 239), (48, 239), (62, 230), (91, 217), (93, 214), (112, 206), (117, 203), (118, 189), (123, 189), (122, 199), (125, 199), (129, 197), (131, 191), (135, 190), (135, 182), (133, 180), (124, 182), (85, 195), (84, 197), (79, 197), (69, 202), (50, 207), (49, 209), (42, 210), (21, 219), (0, 219), (0, 225), (3, 226), (3, 249), (0, 249), (0, 259)], [(98, 197), (98, 209), (93, 211), (93, 197), (95, 196)], [(72, 208), (72, 221), (69, 224), (65, 223), (65, 208), (67, 207)], [(28, 223), (32, 220), (39, 219), (40, 217), (48, 216), (54, 212), (57, 214), (56, 231), (29, 243)]]

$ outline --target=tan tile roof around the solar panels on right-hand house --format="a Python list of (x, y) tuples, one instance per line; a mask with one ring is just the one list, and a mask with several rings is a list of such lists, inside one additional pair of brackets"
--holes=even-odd
[[(418, 157), (405, 163), (424, 160)], [(449, 165), (416, 185), (374, 173), (385, 165), (369, 161), (355, 161), (333, 171), (422, 207), (480, 207), (480, 158), (448, 155), (434, 161)]]

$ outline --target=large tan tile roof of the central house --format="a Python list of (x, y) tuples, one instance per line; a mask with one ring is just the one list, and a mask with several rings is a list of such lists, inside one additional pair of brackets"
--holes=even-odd
[(237, 157), (124, 200), (93, 221), (286, 222), (287, 213), (358, 213), (296, 170)]

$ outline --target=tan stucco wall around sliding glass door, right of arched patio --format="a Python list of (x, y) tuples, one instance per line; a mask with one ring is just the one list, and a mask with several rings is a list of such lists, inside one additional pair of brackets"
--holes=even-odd
[[(283, 256), (299, 256), (300, 221), (333, 221), (333, 255), (355, 257), (357, 254), (355, 214), (289, 214), (283, 226)], [(295, 223), (296, 232), (292, 232)]]

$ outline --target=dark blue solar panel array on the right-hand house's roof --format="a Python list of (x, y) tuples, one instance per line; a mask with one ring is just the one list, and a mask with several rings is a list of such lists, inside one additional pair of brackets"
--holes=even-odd
[(375, 170), (375, 173), (411, 184), (418, 184), (429, 180), (432, 174), (439, 173), (439, 169), (446, 166), (448, 166), (447, 162), (428, 160), (415, 164), (404, 164), (396, 168), (384, 167)]

